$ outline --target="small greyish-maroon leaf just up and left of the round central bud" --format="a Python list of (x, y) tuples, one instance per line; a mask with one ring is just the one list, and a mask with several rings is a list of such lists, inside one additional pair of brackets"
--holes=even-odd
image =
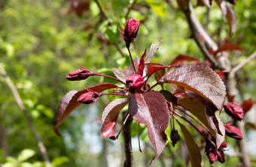
[[(136, 67), (136, 69), (138, 69), (139, 67), (139, 58), (138, 56), (136, 56), (135, 61), (134, 61), (134, 66)], [(130, 76), (131, 74), (133, 74), (134, 69), (133, 69), (133, 65), (130, 65), (129, 67), (127, 67), (124, 70), (118, 70), (117, 68), (111, 68), (114, 72), (114, 75), (117, 76), (117, 79), (119, 79), (122, 82), (126, 82), (126, 79), (128, 76)]]

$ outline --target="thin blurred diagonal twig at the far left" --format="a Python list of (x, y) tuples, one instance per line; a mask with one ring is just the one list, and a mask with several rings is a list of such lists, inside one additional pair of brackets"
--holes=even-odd
[(0, 69), (0, 72), (2, 76), (5, 78), (5, 82), (7, 83), (8, 87), (11, 89), (12, 94), (14, 94), (14, 99), (17, 103), (17, 105), (20, 107), (20, 110), (24, 113), (27, 123), (29, 124), (29, 129), (32, 131), (32, 134), (35, 138), (35, 141), (38, 144), (38, 148), (41, 152), (42, 157), (44, 158), (44, 163), (47, 167), (50, 167), (50, 160), (47, 154), (47, 150), (44, 147), (44, 143), (41, 141), (41, 139), (38, 136), (37, 131), (35, 130), (34, 125), (32, 124), (32, 120), (29, 117), (29, 112), (26, 110), (25, 106), (23, 105), (23, 101), (20, 98), (20, 94), (17, 91), (17, 88), (15, 87), (14, 83), (11, 81), (10, 77), (6, 73), (5, 69)]

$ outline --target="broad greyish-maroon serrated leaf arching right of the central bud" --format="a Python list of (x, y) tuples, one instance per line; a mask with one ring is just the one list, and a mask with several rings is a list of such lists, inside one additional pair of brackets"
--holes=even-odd
[(173, 83), (194, 91), (212, 102), (221, 110), (226, 97), (226, 88), (221, 78), (206, 65), (179, 67), (166, 73), (159, 83)]

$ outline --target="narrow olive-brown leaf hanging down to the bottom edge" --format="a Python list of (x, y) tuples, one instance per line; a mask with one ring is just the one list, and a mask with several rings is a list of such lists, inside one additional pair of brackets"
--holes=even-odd
[(197, 143), (194, 141), (194, 138), (190, 135), (187, 128), (180, 122), (178, 122), (178, 124), (181, 127), (181, 130), (184, 134), (184, 139), (185, 139), (185, 142), (187, 145), (187, 150), (189, 153), (191, 166), (192, 167), (201, 166), (201, 154), (200, 154), (200, 150), (197, 146)]

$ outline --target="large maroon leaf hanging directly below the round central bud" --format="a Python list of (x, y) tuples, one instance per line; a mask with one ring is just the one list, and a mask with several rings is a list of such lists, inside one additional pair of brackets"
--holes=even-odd
[(153, 163), (166, 145), (165, 130), (169, 124), (169, 109), (166, 99), (158, 91), (148, 91), (144, 94), (135, 93), (130, 99), (129, 112), (135, 121), (148, 127), (148, 139), (156, 153), (151, 160)]

